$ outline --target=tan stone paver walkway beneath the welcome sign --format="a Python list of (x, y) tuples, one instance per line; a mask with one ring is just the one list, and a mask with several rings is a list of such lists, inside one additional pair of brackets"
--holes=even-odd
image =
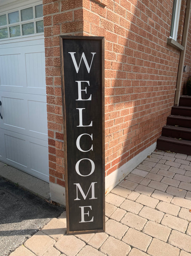
[(10, 256), (191, 255), (191, 156), (155, 151), (106, 196), (106, 232), (65, 235), (65, 213)]

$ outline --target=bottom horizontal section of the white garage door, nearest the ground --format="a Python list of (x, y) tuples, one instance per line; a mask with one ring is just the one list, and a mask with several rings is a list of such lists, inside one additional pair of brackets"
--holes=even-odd
[(49, 182), (48, 142), (3, 129), (0, 133), (0, 161)]

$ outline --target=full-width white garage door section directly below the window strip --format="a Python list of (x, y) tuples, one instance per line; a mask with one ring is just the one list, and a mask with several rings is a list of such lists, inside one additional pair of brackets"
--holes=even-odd
[[(44, 44), (0, 49), (0, 90), (44, 94), (46, 89)], [(25, 42), (29, 44), (29, 42)], [(1, 45), (0, 45), (1, 47)], [(10, 54), (11, 52), (11, 54)], [(10, 87), (9, 87), (10, 86)], [(30, 89), (33, 90), (28, 90)], [(39, 90), (42, 89), (43, 90)]]

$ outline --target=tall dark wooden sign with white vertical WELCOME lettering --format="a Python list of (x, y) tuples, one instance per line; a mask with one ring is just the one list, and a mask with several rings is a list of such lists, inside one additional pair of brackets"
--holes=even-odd
[(104, 37), (60, 46), (67, 234), (104, 232)]

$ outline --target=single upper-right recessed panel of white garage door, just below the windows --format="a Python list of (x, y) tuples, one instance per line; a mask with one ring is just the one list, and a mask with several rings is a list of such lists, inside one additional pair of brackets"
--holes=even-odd
[(27, 87), (45, 88), (45, 67), (44, 52), (25, 53)]

